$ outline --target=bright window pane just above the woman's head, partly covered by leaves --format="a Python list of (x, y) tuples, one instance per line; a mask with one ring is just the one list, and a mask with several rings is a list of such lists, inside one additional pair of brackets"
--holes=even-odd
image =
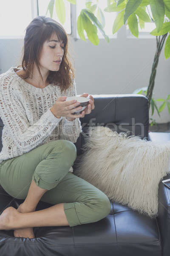
[[(50, 17), (50, 12), (48, 10), (47, 12), (47, 7), (48, 7), (48, 3), (49, 0), (38, 0), (38, 12), (39, 12), (39, 16), (46, 16), (46, 17)], [(65, 4), (65, 23), (62, 24), (61, 21), (59, 20), (57, 13), (56, 13), (56, 9), (55, 9), (55, 4), (54, 4), (54, 9), (53, 9), (53, 17), (52, 19), (56, 20), (57, 22), (59, 22), (63, 28), (65, 29), (65, 31), (67, 32), (67, 34), (71, 34), (71, 10), (70, 10), (70, 3), (66, 0), (64, 0), (64, 4)], [(47, 14), (46, 14), (47, 12)]]

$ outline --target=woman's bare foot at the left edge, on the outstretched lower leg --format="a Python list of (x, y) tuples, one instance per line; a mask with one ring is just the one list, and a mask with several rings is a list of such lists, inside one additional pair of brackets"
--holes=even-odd
[(7, 207), (0, 215), (0, 230), (11, 230), (13, 223), (19, 218), (19, 212), (14, 207)]

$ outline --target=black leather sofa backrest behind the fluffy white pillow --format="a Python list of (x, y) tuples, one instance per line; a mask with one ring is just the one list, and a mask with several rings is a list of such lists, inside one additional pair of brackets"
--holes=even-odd
[[(82, 154), (81, 147), (90, 126), (106, 126), (113, 131), (128, 132), (148, 140), (149, 101), (142, 94), (102, 94), (93, 95), (94, 110), (80, 118), (82, 132), (74, 143), (77, 155)], [(78, 95), (80, 96), (80, 95)]]

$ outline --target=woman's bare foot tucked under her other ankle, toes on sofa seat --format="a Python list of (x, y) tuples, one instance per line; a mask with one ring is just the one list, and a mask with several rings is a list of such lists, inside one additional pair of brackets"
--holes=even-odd
[[(20, 213), (26, 213), (26, 212), (30, 212), (27, 209), (23, 208), (23, 204), (20, 204), (18, 209), (18, 212)], [(25, 228), (18, 228), (14, 230), (14, 236), (15, 237), (26, 237), (26, 238), (35, 238), (34, 236), (34, 231), (32, 227), (25, 227)]]

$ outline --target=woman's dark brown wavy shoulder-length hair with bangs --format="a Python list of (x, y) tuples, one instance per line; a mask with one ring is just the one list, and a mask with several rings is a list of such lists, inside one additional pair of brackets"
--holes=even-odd
[[(24, 37), (24, 46), (22, 49), (22, 65), (17, 67), (23, 68), (26, 72), (23, 79), (32, 77), (34, 63), (37, 66), (38, 72), (42, 78), (40, 72), (40, 53), (42, 45), (46, 40), (51, 38), (51, 35), (56, 33), (58, 40), (64, 43), (64, 55), (58, 71), (49, 70), (47, 81), (51, 84), (59, 85), (61, 91), (68, 89), (74, 81), (74, 67), (71, 61), (68, 59), (68, 36), (65, 29), (56, 20), (45, 17), (37, 16), (26, 27), (26, 35)], [(42, 78), (43, 81), (43, 78)], [(58, 84), (59, 83), (59, 84)]]

